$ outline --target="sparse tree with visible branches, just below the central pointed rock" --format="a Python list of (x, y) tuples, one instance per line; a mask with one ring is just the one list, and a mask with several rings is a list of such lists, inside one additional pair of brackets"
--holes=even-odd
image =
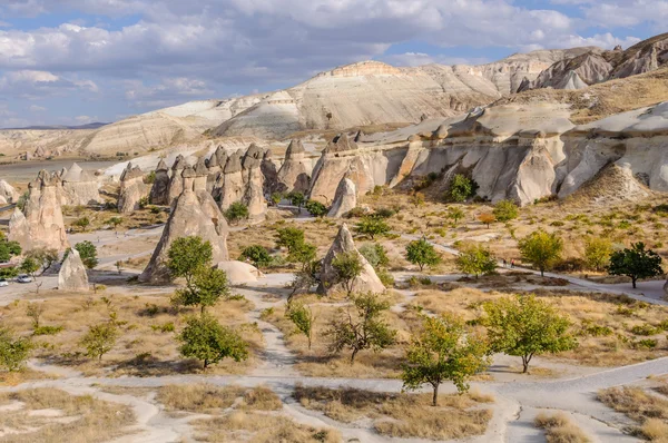
[(340, 308), (330, 322), (325, 335), (332, 337), (330, 351), (340, 353), (344, 348), (352, 351), (351, 364), (360, 351), (381, 351), (394, 344), (396, 331), (390, 328), (382, 315), (390, 309), (390, 303), (381, 301), (372, 293), (351, 296), (354, 309)]

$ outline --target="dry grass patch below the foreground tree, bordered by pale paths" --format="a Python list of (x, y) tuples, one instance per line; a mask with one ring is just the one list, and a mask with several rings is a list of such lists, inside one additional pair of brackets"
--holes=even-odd
[(387, 394), (352, 388), (295, 387), (302, 406), (326, 416), (353, 423), (371, 419), (375, 430), (392, 437), (433, 440), (464, 439), (481, 435), (492, 417), (480, 408), (492, 397), (478, 393), (440, 395), (439, 406), (431, 406), (430, 394)]

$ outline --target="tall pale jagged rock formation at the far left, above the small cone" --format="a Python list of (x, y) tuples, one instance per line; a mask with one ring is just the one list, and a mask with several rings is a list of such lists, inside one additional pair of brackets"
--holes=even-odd
[(9, 220), (9, 239), (18, 242), (24, 252), (45, 248), (65, 250), (69, 247), (60, 208), (59, 179), (46, 170), (29, 185), (26, 215), (18, 208)]

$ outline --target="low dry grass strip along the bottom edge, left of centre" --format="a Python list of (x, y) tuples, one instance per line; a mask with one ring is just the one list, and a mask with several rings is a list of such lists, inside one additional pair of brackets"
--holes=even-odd
[(341, 435), (332, 429), (297, 424), (281, 415), (235, 411), (222, 417), (191, 422), (198, 442), (223, 443), (338, 443)]

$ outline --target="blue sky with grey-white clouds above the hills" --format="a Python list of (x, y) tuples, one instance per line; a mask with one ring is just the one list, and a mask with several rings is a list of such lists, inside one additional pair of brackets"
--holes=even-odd
[(668, 0), (0, 0), (0, 127), (112, 121), (364, 59), (626, 48), (666, 23)]

